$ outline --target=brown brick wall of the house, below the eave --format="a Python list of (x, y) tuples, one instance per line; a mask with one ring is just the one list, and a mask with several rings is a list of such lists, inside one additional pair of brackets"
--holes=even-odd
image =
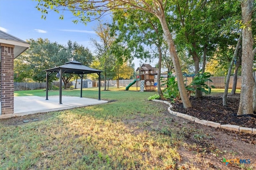
[(1, 95), (1, 113), (14, 113), (14, 46), (1, 46), (1, 64), (0, 64), (0, 95)]

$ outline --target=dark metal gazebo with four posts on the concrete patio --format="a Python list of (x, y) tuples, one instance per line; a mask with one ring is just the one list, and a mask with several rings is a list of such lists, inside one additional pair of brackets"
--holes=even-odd
[[(48, 100), (49, 76), (50, 76), (50, 74), (52, 74), (54, 72), (56, 72), (60, 78), (59, 104), (62, 104), (62, 74), (63, 73), (78, 74), (81, 77), (81, 81), (83, 80), (84, 74), (97, 73), (99, 76), (98, 100), (100, 100), (100, 73), (102, 72), (101, 70), (97, 70), (94, 68), (90, 68), (88, 66), (84, 66), (84, 65), (82, 65), (82, 63), (73, 60), (73, 61), (69, 61), (69, 62), (65, 63), (62, 66), (50, 68), (45, 71), (46, 71), (46, 100)], [(80, 98), (82, 98), (82, 86), (80, 88)]]

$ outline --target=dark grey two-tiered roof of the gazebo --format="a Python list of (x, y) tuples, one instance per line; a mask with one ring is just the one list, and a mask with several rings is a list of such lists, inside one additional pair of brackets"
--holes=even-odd
[(57, 66), (54, 68), (50, 68), (45, 70), (46, 72), (58, 72), (62, 68), (62, 72), (64, 73), (73, 73), (73, 74), (90, 74), (90, 73), (99, 73), (102, 72), (101, 70), (97, 70), (94, 68), (90, 68), (88, 66), (82, 65), (82, 63), (78, 61), (70, 61), (65, 63), (62, 66)]

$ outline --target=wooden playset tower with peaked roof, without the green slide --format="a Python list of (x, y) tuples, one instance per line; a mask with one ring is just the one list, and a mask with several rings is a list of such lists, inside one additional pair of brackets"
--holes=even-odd
[(136, 77), (137, 79), (140, 78), (140, 83), (142, 84), (142, 86), (144, 81), (145, 91), (154, 90), (154, 75), (157, 75), (157, 68), (152, 67), (150, 64), (142, 64), (140, 67), (136, 69)]

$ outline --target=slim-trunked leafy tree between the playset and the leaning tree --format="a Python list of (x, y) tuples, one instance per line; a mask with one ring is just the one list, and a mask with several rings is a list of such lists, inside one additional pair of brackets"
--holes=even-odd
[[(164, 36), (159, 20), (153, 14), (141, 10), (115, 10), (112, 28), (118, 31), (116, 41), (123, 41), (130, 53), (140, 59), (158, 57), (158, 94), (162, 95), (160, 74)], [(145, 48), (149, 47), (149, 48)], [(156, 49), (156, 50), (155, 50)], [(149, 51), (151, 50), (151, 51)], [(130, 55), (134, 58), (134, 56)]]

